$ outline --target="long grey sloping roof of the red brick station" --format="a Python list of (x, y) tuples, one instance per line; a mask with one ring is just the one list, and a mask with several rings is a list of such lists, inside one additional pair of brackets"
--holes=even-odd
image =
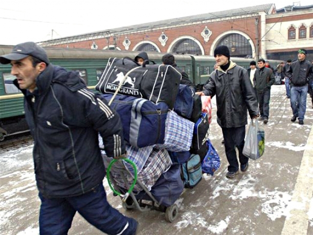
[(92, 32), (92, 33), (73, 35), (70, 37), (40, 42), (40, 44), (53, 45), (53, 44), (63, 44), (63, 43), (74, 43), (74, 42), (90, 40), (90, 39), (106, 38), (106, 37), (110, 37), (113, 35), (129, 34), (129, 33), (135, 33), (138, 31), (173, 27), (174, 25), (175, 27), (177, 27), (179, 25), (186, 25), (186, 24), (191, 24), (191, 23), (196, 23), (196, 22), (201, 22), (201, 21), (212, 21), (212, 20), (221, 19), (221, 18), (231, 18), (231, 17), (237, 17), (237, 16), (251, 15), (251, 14), (258, 13), (258, 12), (265, 12), (266, 14), (271, 14), (274, 8), (275, 8), (275, 5), (273, 3), (263, 4), (263, 5), (258, 5), (258, 6), (242, 7), (242, 8), (237, 8), (237, 9), (225, 10), (225, 11), (204, 13), (200, 15), (173, 18), (173, 19), (163, 20), (163, 21), (141, 23), (141, 24), (135, 24), (135, 25), (125, 26), (125, 27), (101, 30), (101, 31)]

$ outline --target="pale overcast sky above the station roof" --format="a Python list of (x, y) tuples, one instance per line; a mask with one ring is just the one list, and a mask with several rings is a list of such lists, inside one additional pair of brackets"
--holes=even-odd
[[(227, 4), (226, 4), (227, 2)], [(121, 26), (275, 3), (277, 9), (312, 0), (15, 0), (0, 6), (0, 44), (40, 42)], [(221, 4), (219, 4), (221, 3)]]

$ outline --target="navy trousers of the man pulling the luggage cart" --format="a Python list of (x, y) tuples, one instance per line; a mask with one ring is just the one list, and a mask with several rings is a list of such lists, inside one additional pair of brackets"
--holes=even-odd
[(76, 211), (90, 224), (109, 235), (134, 235), (137, 222), (119, 213), (108, 203), (103, 185), (80, 196), (41, 199), (41, 235), (67, 235)]

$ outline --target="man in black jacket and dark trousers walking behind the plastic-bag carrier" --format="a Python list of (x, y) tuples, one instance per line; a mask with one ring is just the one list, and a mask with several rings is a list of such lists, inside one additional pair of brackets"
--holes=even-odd
[(263, 59), (258, 60), (258, 69), (256, 70), (253, 78), (253, 84), (256, 88), (260, 115), (259, 121), (263, 121), (264, 124), (268, 123), (269, 116), (269, 98), (270, 87), (275, 82), (275, 76), (270, 68), (265, 66)]

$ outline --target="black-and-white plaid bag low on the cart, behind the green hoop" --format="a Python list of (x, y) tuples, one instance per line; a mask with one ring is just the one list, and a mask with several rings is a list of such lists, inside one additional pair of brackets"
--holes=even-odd
[[(105, 157), (104, 160), (105, 166), (107, 168), (112, 158)], [(127, 165), (127, 163), (125, 162), (123, 162), (123, 164), (124, 166)], [(150, 156), (148, 157), (143, 169), (137, 174), (137, 180), (140, 180), (140, 182), (143, 183), (143, 185), (145, 185), (150, 191), (151, 187), (154, 186), (160, 175), (166, 172), (171, 165), (172, 161), (168, 152), (165, 149), (161, 149), (155, 146)], [(120, 173), (121, 169), (123, 169), (123, 166), (121, 166), (120, 164), (118, 163), (113, 164), (110, 171), (112, 180), (114, 180), (119, 187), (123, 189), (128, 189), (121, 176)], [(132, 174), (131, 171), (130, 173), (126, 174), (126, 180), (129, 185), (131, 185), (134, 180), (134, 177), (131, 174)], [(135, 184), (134, 191), (135, 192), (142, 191), (142, 188), (138, 183)]]

